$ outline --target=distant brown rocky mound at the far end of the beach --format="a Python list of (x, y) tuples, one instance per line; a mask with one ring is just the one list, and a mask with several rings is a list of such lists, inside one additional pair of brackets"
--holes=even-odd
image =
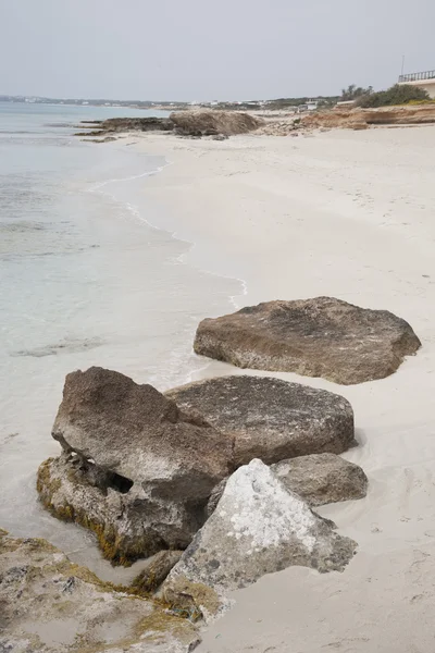
[(253, 132), (264, 124), (262, 119), (243, 111), (177, 111), (171, 113), (170, 119), (177, 133), (186, 136), (234, 136)]

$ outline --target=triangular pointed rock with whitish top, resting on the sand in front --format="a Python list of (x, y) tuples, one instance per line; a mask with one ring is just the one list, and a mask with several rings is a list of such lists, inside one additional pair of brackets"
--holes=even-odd
[(222, 594), (290, 565), (343, 571), (356, 546), (261, 460), (252, 460), (228, 479), (215, 512), (162, 589), (176, 602), (177, 586), (199, 583)]

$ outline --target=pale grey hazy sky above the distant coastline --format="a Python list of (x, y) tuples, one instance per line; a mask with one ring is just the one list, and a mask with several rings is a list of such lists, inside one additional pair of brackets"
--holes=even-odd
[(249, 100), (435, 69), (433, 0), (0, 0), (0, 95)]

